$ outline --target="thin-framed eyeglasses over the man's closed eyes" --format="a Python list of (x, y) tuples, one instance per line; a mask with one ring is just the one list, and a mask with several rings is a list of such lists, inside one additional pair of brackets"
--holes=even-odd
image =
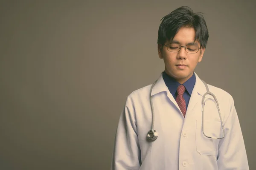
[(170, 51), (170, 52), (179, 52), (181, 47), (184, 47), (185, 48), (185, 51), (187, 53), (190, 53), (190, 54), (193, 54), (193, 53), (197, 53), (199, 51), (199, 48), (197, 45), (192, 45), (192, 44), (188, 44), (186, 46), (181, 46), (180, 44), (177, 44), (177, 43), (170, 43), (170, 44), (163, 44), (164, 46), (167, 47), (167, 50)]

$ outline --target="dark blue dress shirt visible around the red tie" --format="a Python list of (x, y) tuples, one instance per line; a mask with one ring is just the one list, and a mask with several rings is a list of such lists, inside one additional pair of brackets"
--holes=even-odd
[[(168, 87), (170, 93), (172, 94), (173, 98), (176, 100), (177, 97), (177, 88), (180, 85), (179, 82), (177, 82), (173, 77), (170, 77), (168, 74), (166, 74), (165, 71), (163, 71), (163, 80)], [(190, 77), (186, 82), (183, 83), (186, 90), (183, 94), (183, 98), (186, 102), (186, 109), (189, 105), (189, 99), (192, 94), (193, 88), (195, 86), (195, 73), (193, 73), (192, 77)]]

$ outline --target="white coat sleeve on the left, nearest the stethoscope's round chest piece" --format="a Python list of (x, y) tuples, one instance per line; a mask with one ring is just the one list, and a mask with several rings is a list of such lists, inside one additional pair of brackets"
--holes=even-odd
[(111, 170), (139, 170), (140, 162), (135, 111), (128, 96), (116, 130)]

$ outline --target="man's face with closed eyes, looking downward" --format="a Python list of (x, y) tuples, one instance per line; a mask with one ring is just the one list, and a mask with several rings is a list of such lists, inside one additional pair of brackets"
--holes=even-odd
[[(200, 47), (199, 42), (194, 42), (195, 30), (194, 28), (182, 27), (179, 29), (172, 42), (177, 42), (181, 46), (186, 46), (189, 43), (195, 43)], [(168, 45), (171, 42), (166, 42)], [(204, 55), (204, 48), (199, 49), (195, 54), (189, 54), (185, 48), (181, 47), (179, 52), (170, 52), (166, 46), (158, 44), (158, 55), (163, 59), (165, 64), (165, 72), (169, 76), (175, 78), (177, 82), (183, 84), (192, 77), (195, 67), (198, 62), (201, 62)], [(185, 65), (185, 66), (180, 66)]]

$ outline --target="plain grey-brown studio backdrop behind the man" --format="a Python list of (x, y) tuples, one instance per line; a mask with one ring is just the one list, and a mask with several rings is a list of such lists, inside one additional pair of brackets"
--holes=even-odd
[[(110, 169), (125, 99), (164, 70), (160, 19), (203, 12), (196, 73), (235, 101), (256, 169), (255, 1), (1, 1), (0, 169)], [(234, 148), (235, 149), (235, 148)]]

